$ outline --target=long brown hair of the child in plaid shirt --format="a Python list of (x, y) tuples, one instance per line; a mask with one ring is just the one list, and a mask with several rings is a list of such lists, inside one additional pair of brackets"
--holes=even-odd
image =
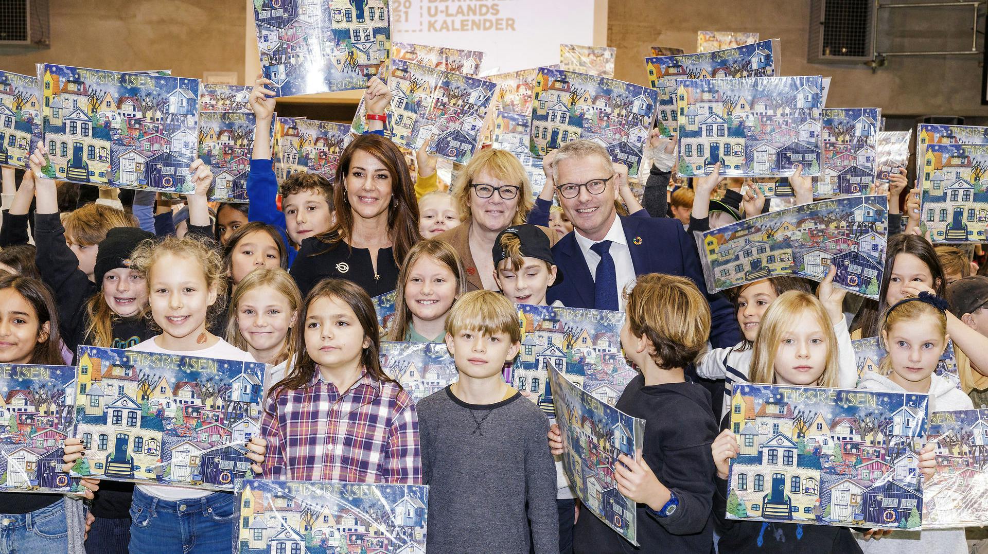
[[(364, 336), (371, 339), (371, 345), (361, 353), (361, 363), (375, 381), (397, 383), (397, 381), (388, 377), (380, 368), (380, 356), (378, 354), (380, 332), (377, 329), (377, 314), (374, 312), (373, 302), (371, 302), (371, 296), (368, 295), (367, 290), (364, 290), (364, 288), (350, 280), (341, 278), (323, 279), (312, 290), (309, 290), (309, 293), (305, 296), (305, 301), (302, 303), (304, 307), (301, 313), (298, 314), (297, 326), (305, 325), (305, 321), (308, 319), (309, 308), (319, 298), (337, 298), (350, 306), (350, 309), (354, 310), (357, 321), (360, 322), (361, 327), (364, 329)], [(297, 334), (294, 351), (298, 353), (295, 363), (291, 366), (285, 378), (271, 387), (274, 398), (278, 398), (288, 389), (297, 390), (305, 388), (315, 375), (315, 361), (312, 359), (312, 356), (309, 356), (308, 350), (305, 348), (304, 331)], [(342, 393), (343, 391), (340, 392)]]

